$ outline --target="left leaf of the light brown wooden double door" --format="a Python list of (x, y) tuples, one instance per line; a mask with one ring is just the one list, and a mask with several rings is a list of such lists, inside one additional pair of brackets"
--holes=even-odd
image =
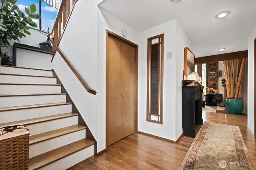
[(107, 145), (122, 139), (122, 42), (108, 37)]

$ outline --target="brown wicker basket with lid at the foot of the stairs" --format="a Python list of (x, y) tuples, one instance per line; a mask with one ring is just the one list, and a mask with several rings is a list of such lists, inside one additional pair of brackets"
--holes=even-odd
[(0, 135), (0, 170), (28, 170), (28, 150), (28, 130), (17, 129)]

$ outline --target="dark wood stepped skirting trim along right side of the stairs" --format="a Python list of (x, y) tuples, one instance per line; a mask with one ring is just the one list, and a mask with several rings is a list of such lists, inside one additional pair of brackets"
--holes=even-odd
[(79, 125), (83, 125), (86, 127), (86, 138), (93, 141), (95, 144), (94, 144), (94, 154), (96, 155), (97, 154), (97, 149), (98, 149), (98, 145), (97, 145), (97, 141), (95, 139), (95, 137), (92, 135), (92, 131), (90, 130), (90, 127), (88, 127), (86, 121), (84, 120), (84, 118), (82, 117), (82, 115), (80, 114), (79, 110), (77, 109), (76, 105), (74, 104), (73, 100), (71, 99), (71, 97), (69, 96), (68, 94), (68, 91), (66, 90), (66, 88), (64, 87), (64, 85), (62, 84), (62, 82), (60, 81), (60, 78), (58, 77), (58, 75), (56, 74), (56, 72), (53, 70), (53, 76), (56, 76), (57, 77), (57, 83), (58, 84), (61, 84), (62, 85), (62, 88), (61, 88), (61, 92), (64, 93), (64, 94), (67, 94), (66, 95), (66, 102), (70, 102), (72, 103), (72, 112), (73, 113), (79, 113), (79, 116), (78, 116), (78, 124)]

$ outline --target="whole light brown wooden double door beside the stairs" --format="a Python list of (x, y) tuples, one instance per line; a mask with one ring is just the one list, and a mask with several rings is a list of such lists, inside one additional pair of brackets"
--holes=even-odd
[(137, 52), (108, 36), (106, 70), (106, 145), (137, 129)]

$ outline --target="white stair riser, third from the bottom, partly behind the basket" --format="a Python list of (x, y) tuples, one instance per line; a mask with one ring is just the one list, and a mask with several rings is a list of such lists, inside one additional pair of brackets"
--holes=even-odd
[(30, 136), (78, 124), (78, 116), (27, 125)]

